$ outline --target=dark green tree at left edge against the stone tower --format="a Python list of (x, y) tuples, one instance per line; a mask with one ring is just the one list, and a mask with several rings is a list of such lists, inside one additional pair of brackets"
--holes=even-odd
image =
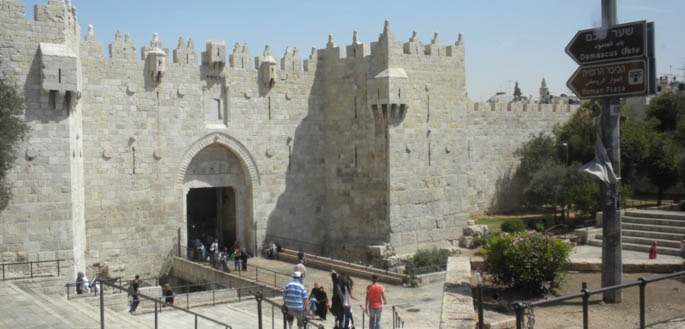
[(7, 172), (16, 160), (19, 142), (29, 131), (23, 113), (23, 97), (0, 78), (0, 211), (7, 207), (11, 198)]

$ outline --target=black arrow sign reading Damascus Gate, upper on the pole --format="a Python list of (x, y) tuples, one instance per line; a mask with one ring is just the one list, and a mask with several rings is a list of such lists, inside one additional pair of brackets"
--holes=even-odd
[(647, 22), (578, 31), (566, 53), (580, 65), (645, 57)]

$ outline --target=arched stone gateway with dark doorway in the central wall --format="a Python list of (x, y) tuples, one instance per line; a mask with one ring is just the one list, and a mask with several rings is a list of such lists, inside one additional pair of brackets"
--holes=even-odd
[(253, 189), (260, 178), (245, 146), (221, 133), (200, 138), (186, 151), (178, 178), (188, 246), (216, 238), (221, 245), (256, 248)]

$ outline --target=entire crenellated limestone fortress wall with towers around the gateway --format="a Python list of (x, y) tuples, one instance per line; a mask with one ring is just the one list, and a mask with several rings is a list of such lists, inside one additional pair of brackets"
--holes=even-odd
[(253, 254), (270, 241), (352, 260), (454, 246), (470, 213), (504, 200), (516, 147), (574, 111), (470, 104), (461, 37), (402, 43), (387, 21), (370, 45), (330, 36), (304, 61), (215, 40), (170, 50), (157, 35), (138, 50), (120, 32), (105, 57), (92, 26), (79, 40), (68, 1), (33, 21), (0, 5), (0, 68), (33, 128), (9, 173), (3, 260), (157, 273), (205, 187), (235, 191)]

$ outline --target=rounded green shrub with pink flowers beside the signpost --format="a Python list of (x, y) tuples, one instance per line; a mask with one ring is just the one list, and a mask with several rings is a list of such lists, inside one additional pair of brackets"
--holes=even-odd
[(500, 233), (481, 249), (484, 270), (494, 283), (534, 293), (559, 287), (570, 251), (571, 246), (535, 231)]

